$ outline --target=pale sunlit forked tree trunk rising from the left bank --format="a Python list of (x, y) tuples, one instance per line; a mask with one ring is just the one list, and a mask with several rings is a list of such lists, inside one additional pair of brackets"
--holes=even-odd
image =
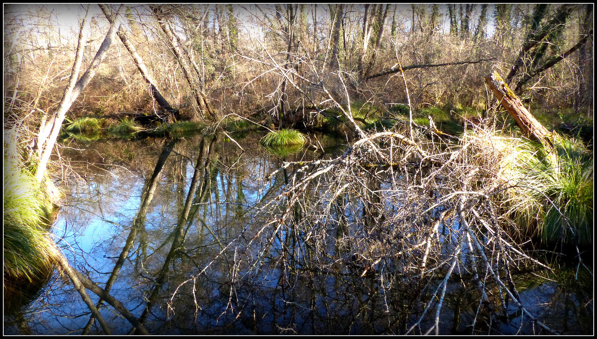
[[(122, 7), (122, 6), (121, 6)], [(118, 11), (120, 8), (118, 9)], [(116, 11), (116, 14), (118, 14)], [(52, 154), (52, 150), (54, 149), (54, 144), (56, 144), (56, 138), (60, 132), (60, 126), (64, 121), (64, 117), (66, 116), (67, 110), (70, 109), (70, 106), (75, 102), (76, 98), (81, 94), (81, 91), (91, 82), (91, 79), (96, 75), (97, 69), (99, 69), (101, 61), (104, 60), (106, 57), (107, 51), (112, 45), (112, 40), (114, 39), (114, 35), (116, 34), (116, 20), (112, 21), (110, 24), (110, 28), (106, 33), (106, 38), (101, 43), (99, 50), (96, 53), (96, 56), (91, 61), (91, 65), (87, 69), (87, 71), (81, 76), (81, 79), (76, 82), (76, 84), (72, 86), (73, 82), (76, 79), (76, 76), (79, 73), (79, 69), (81, 67), (81, 61), (83, 58), (83, 46), (84, 46), (84, 25), (81, 25), (81, 33), (79, 33), (79, 44), (77, 47), (77, 52), (75, 56), (75, 64), (73, 65), (73, 70), (70, 75), (69, 85), (67, 86), (66, 90), (64, 91), (64, 95), (56, 112), (54, 113), (53, 117), (47, 124), (42, 125), (39, 128), (39, 137), (37, 143), (38, 155), (39, 155), (39, 164), (36, 173), (36, 178), (38, 182), (41, 183), (42, 178), (44, 178), (44, 173), (46, 171), (46, 167), (48, 165), (48, 161), (50, 160), (50, 155)]]

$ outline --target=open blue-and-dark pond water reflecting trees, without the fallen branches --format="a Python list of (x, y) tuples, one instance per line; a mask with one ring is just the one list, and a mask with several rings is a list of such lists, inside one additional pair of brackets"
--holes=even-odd
[[(260, 241), (268, 227), (260, 208), (282, 192), (301, 162), (335, 158), (347, 147), (346, 140), (319, 136), (325, 153), (311, 147), (281, 158), (260, 146), (260, 137), (237, 140), (244, 151), (213, 135), (64, 144), (70, 148), (61, 155), (72, 167), (59, 183), (67, 198), (52, 230), (57, 244), (73, 267), (109, 286), (151, 334), (405, 334), (423, 313), (410, 334), (427, 332), (436, 306), (426, 310), (416, 301), (429, 301), (443, 276), (426, 285), (389, 285), (358, 261), (309, 266), (279, 259), (287, 248), (296, 258), (341, 257), (330, 240), (334, 229), (315, 235), (325, 252), (292, 246), (295, 235), (284, 230)], [(269, 178), (284, 161), (297, 163)], [(560, 334), (593, 334), (592, 276), (575, 264), (555, 267), (515, 273), (523, 306)], [(497, 295), (500, 287), (494, 289)], [(464, 273), (451, 278), (441, 334), (540, 332), (512, 300), (487, 322), (477, 293)], [(112, 334), (134, 333), (111, 306), (100, 312)], [(79, 335), (90, 311), (55, 273), (15, 319), (5, 316), (4, 334), (28, 328), (38, 335)], [(101, 333), (94, 322), (89, 334)]]

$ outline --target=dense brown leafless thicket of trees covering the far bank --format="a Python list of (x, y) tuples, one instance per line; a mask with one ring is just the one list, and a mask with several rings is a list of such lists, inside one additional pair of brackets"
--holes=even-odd
[[(116, 8), (91, 8), (83, 69)], [(56, 109), (75, 56), (79, 12), (75, 5), (5, 6), (5, 118), (32, 113), (35, 125), (40, 110)], [(327, 106), (321, 85), (339, 103), (346, 95), (377, 106), (406, 103), (398, 62), (415, 108), (482, 107), (482, 76), (498, 70), (543, 110), (592, 116), (592, 19), (590, 4), (125, 7), (119, 36), (128, 45), (113, 44), (67, 117), (159, 109), (139, 60), (188, 119), (259, 112), (288, 125), (313, 124), (313, 115), (295, 113), (312, 103)], [(477, 60), (485, 61), (450, 64)], [(447, 65), (429, 66), (437, 64)]]

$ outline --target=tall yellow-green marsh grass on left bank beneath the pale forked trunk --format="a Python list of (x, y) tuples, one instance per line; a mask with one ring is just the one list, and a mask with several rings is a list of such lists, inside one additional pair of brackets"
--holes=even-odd
[[(26, 304), (54, 272), (58, 254), (47, 226), (53, 184), (41, 186), (25, 168), (18, 129), (4, 130), (4, 306), (10, 314)], [(56, 194), (54, 194), (56, 193)]]

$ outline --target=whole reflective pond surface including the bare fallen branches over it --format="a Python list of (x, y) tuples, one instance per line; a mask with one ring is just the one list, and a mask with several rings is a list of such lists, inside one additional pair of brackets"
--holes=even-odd
[[(99, 158), (93, 170), (75, 169), (87, 181), (67, 186), (59, 245), (151, 334), (546, 333), (506, 288), (552, 331), (592, 332), (592, 277), (524, 273), (530, 260), (487, 232), (466, 232), (491, 220), (489, 205), (473, 219), (458, 207), (470, 197), (438, 204), (468, 185), (445, 178), (469, 172), (408, 174), (364, 147), (328, 152), (344, 162), (317, 162), (310, 151), (282, 162), (256, 140), (247, 152), (214, 136), (66, 150), (72, 164)], [(503, 247), (487, 252), (503, 286), (469, 255), (491, 241)], [(112, 307), (100, 310), (113, 334), (135, 333)], [(34, 334), (101, 333), (59, 278), (25, 320)]]

